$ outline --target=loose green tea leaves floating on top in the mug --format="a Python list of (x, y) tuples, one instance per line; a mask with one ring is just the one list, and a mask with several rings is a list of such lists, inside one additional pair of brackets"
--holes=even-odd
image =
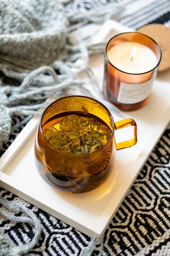
[[(82, 111), (88, 114), (83, 106)], [(108, 126), (94, 117), (71, 114), (57, 120), (56, 117), (56, 123), (44, 129), (44, 137), (53, 147), (67, 153), (93, 153), (106, 144), (111, 135)]]

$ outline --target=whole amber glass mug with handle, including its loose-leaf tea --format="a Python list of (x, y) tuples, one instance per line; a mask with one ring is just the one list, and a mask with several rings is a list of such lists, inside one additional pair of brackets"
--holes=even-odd
[[(115, 130), (127, 126), (134, 127), (134, 137), (117, 143)], [(68, 193), (84, 193), (108, 179), (116, 150), (136, 142), (133, 119), (114, 123), (99, 101), (68, 96), (51, 103), (42, 114), (35, 139), (35, 163), (51, 186)]]

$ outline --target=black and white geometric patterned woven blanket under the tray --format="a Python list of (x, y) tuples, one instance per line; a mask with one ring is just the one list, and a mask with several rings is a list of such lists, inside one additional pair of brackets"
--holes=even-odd
[[(126, 16), (117, 18), (123, 25), (133, 29), (150, 23), (170, 27), (170, 0), (119, 0), (119, 3), (126, 7)], [(95, 4), (107, 4), (107, 1), (74, 0), (69, 8), (88, 10)], [(13, 125), (18, 121), (17, 117), (13, 119)], [(1, 155), (19, 132), (15, 130), (11, 133)], [(28, 255), (76, 256), (90, 242), (90, 237), (3, 188), (0, 195), (28, 207), (41, 222), (41, 238)], [(0, 227), (16, 244), (26, 243), (33, 236), (32, 227), (27, 224), (16, 224), (1, 218)], [(150, 154), (102, 240), (102, 256), (170, 255), (170, 126)], [(98, 252), (96, 247), (92, 255)]]

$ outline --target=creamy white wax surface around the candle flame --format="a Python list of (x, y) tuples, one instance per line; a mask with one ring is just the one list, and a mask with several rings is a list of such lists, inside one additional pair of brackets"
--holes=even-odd
[[(132, 58), (132, 48), (136, 46), (136, 55)], [(145, 73), (157, 65), (155, 53), (147, 46), (136, 42), (124, 42), (108, 50), (108, 60), (119, 70), (131, 74)]]

